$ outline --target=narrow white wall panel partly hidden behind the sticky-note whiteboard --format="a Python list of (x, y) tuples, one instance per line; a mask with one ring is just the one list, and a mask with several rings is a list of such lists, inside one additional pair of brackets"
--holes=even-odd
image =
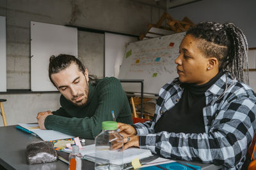
[(118, 77), (125, 49), (129, 43), (137, 39), (134, 36), (105, 33), (105, 76)]

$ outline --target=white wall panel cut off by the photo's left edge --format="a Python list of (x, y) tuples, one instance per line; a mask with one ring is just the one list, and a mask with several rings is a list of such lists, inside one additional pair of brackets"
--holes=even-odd
[(6, 92), (6, 25), (0, 16), (0, 92)]

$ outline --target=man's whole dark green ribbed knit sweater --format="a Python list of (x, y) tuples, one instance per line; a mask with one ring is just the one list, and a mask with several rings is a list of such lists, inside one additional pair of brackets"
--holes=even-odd
[(132, 114), (121, 83), (118, 79), (103, 78), (96, 85), (89, 83), (88, 102), (84, 107), (74, 106), (61, 95), (61, 108), (45, 118), (45, 128), (80, 138), (94, 139), (101, 131), (103, 121), (132, 124)]

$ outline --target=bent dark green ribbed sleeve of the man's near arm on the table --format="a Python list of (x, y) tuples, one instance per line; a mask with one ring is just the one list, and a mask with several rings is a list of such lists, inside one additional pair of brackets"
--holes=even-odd
[(94, 139), (103, 121), (113, 120), (111, 111), (118, 117), (124, 105), (124, 90), (116, 78), (107, 78), (97, 85), (98, 106), (92, 117), (67, 118), (49, 115), (45, 118), (45, 128), (60, 131), (80, 138)]

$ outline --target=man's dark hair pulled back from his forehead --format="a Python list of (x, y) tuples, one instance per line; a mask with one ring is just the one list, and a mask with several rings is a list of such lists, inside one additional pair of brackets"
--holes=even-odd
[[(82, 64), (82, 62), (79, 59), (77, 59), (76, 57), (74, 57), (73, 55), (60, 54), (58, 56), (52, 55), (50, 57), (48, 72), (49, 72), (49, 78), (55, 87), (56, 87), (56, 85), (52, 81), (51, 74), (59, 73), (60, 71), (67, 69), (67, 67), (70, 66), (70, 64), (72, 64), (72, 63), (77, 65), (79, 71), (81, 71), (82, 73), (85, 72), (85, 67)], [(97, 80), (96, 76), (89, 75), (89, 81), (92, 84), (95, 84), (96, 80)]]

